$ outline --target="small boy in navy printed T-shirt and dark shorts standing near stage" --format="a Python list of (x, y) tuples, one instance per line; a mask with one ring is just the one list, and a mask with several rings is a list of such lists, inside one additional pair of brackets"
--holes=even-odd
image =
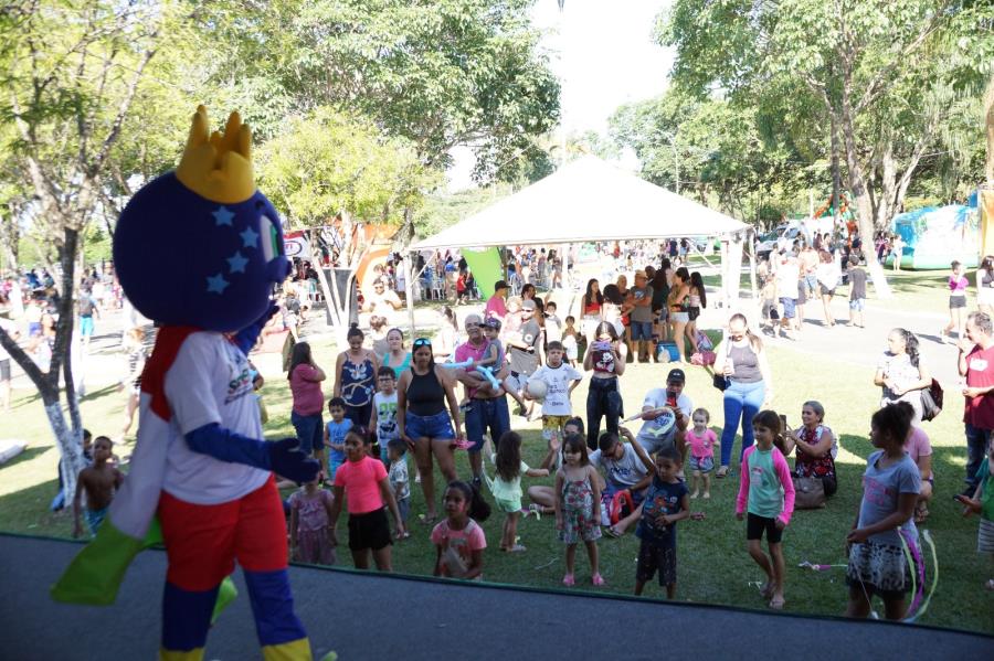
[(645, 500), (638, 505), (642, 519), (635, 529), (635, 536), (642, 540), (635, 569), (636, 595), (642, 594), (645, 584), (658, 571), (666, 598), (676, 596), (676, 522), (690, 515), (687, 486), (677, 477), (683, 463), (683, 457), (674, 446), (665, 447), (656, 455), (656, 475)]

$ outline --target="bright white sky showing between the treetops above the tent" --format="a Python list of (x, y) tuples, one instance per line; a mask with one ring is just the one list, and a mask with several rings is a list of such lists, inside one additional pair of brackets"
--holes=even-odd
[[(673, 53), (652, 42), (655, 19), (672, 0), (537, 0), (531, 20), (562, 86), (562, 126), (567, 134), (605, 134), (607, 118), (626, 103), (666, 89)], [(450, 191), (472, 185), (469, 149), (453, 150)]]

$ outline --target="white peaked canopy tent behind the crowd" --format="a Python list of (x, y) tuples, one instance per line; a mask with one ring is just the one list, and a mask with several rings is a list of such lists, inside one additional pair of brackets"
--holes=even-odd
[(751, 231), (741, 221), (588, 156), (408, 250), (720, 237), (728, 300), (738, 298), (742, 245)]

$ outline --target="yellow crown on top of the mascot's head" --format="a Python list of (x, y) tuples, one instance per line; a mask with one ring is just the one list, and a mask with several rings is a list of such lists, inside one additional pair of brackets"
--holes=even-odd
[(222, 204), (244, 202), (255, 194), (252, 130), (232, 113), (224, 135), (210, 132), (207, 108), (197, 106), (176, 178), (200, 195)]

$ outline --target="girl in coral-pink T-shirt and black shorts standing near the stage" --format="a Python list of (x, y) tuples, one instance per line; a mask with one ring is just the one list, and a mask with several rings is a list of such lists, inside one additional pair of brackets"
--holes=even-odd
[(377, 569), (392, 572), (390, 545), (390, 522), (383, 503), (390, 508), (396, 523), (398, 536), (404, 534), (404, 523), (387, 478), (383, 462), (369, 456), (372, 440), (363, 427), (352, 427), (346, 434), (345, 451), (347, 461), (335, 473), (335, 502), (331, 504), (331, 540), (338, 543), (338, 515), (341, 513), (342, 498), (349, 504), (349, 551), (357, 569), (369, 568), (372, 551)]

